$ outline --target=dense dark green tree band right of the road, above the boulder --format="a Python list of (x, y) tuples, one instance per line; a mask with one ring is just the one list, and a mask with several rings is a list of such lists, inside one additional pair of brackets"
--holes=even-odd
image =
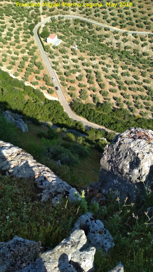
[(135, 117), (127, 109), (112, 109), (110, 102), (83, 104), (77, 99), (71, 105), (77, 115), (87, 118), (88, 121), (104, 125), (106, 128), (123, 132), (130, 127), (153, 129), (153, 121), (144, 117)]

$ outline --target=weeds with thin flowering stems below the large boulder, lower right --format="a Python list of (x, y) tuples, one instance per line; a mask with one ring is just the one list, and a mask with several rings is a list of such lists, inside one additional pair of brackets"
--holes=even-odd
[[(114, 201), (113, 196), (109, 195), (107, 207), (100, 207), (98, 219), (103, 221), (105, 228), (111, 233), (115, 247), (105, 256), (100, 250), (97, 251), (94, 260), (96, 272), (108, 272), (120, 261), (125, 272), (152, 271), (153, 223), (146, 212), (149, 206), (145, 203), (140, 212), (137, 205), (127, 205), (126, 200), (121, 206), (119, 198)], [(152, 195), (148, 193), (146, 200), (151, 203)]]

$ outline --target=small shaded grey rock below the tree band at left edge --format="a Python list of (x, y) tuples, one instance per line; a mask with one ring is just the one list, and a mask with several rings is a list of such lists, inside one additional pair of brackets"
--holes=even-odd
[(12, 113), (10, 110), (3, 112), (4, 117), (6, 117), (9, 123), (13, 122), (17, 128), (21, 129), (23, 132), (28, 131), (27, 124), (21, 119), (22, 115)]

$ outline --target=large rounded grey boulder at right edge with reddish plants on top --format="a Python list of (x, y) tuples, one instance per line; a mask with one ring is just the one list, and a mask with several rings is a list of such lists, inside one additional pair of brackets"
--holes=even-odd
[[(102, 193), (118, 191), (122, 201), (135, 201), (144, 194), (144, 184), (153, 184), (153, 131), (131, 128), (106, 145), (100, 161)], [(138, 188), (138, 190), (135, 188)]]

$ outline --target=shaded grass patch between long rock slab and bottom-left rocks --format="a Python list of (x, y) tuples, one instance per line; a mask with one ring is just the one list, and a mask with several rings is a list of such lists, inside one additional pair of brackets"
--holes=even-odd
[(28, 240), (41, 240), (45, 247), (53, 248), (76, 221), (77, 205), (62, 203), (52, 206), (51, 199), (39, 201), (39, 188), (34, 180), (1, 177), (0, 180), (0, 241), (11, 240), (14, 235)]

